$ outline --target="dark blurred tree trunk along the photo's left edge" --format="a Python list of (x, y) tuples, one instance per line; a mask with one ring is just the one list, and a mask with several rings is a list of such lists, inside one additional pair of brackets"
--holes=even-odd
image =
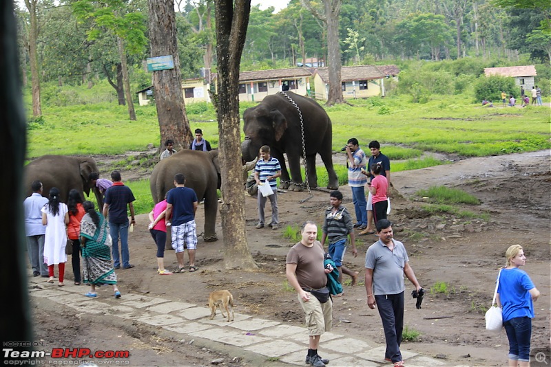
[[(0, 170), (4, 173), (0, 188), (6, 193), (0, 203), (0, 230), (3, 241), (6, 241), (4, 243), (10, 244), (0, 248), (3, 274), (0, 278), (0, 289), (2, 294), (10, 295), (10, 302), (3, 304), (0, 337), (6, 342), (17, 341), (19, 344), (14, 348), (15, 351), (32, 353), (34, 337), (26, 275), (25, 237), (21, 235), (24, 232), (21, 203), (26, 148), (25, 110), (21, 100), (18, 71), (14, 1), (0, 1), (0, 19), (0, 111), (3, 115), (0, 124), (0, 146), (3, 149)], [(8, 360), (19, 362), (19, 359), (5, 359)]]

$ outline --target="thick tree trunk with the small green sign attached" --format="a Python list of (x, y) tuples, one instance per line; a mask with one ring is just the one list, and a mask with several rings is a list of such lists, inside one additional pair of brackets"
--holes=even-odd
[(185, 114), (180, 57), (176, 41), (176, 13), (173, 0), (148, 0), (151, 56), (174, 59), (174, 69), (153, 71), (153, 89), (159, 120), (160, 146), (174, 140), (176, 150), (189, 148), (191, 131)]

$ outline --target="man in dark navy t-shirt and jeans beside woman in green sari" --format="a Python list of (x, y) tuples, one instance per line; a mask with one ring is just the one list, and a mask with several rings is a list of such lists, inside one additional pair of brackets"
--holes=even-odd
[[(134, 205), (136, 200), (132, 190), (122, 182), (121, 173), (114, 170), (111, 173), (113, 186), (105, 192), (103, 203), (103, 216), (109, 221), (111, 238), (113, 240), (112, 255), (115, 269), (121, 268), (121, 256), (123, 269), (131, 269), (130, 252), (128, 249), (128, 216), (127, 208), (130, 210), (131, 225), (136, 224), (134, 219)], [(121, 238), (121, 254), (118, 253), (118, 238)]]

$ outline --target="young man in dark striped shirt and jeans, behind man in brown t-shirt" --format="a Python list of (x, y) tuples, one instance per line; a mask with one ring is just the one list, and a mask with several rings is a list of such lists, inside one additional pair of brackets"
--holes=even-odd
[[(329, 203), (331, 206), (325, 210), (324, 223), (322, 226), (322, 246), (325, 240), (329, 243), (327, 252), (331, 260), (339, 271), (339, 282), (342, 284), (342, 273), (351, 276), (351, 286), (357, 283), (357, 271), (351, 271), (342, 264), (346, 245), (352, 245), (352, 254), (357, 256), (356, 237), (354, 234), (354, 223), (348, 209), (342, 205), (342, 192), (339, 190), (331, 191), (329, 194)], [(336, 295), (335, 295), (336, 296)]]

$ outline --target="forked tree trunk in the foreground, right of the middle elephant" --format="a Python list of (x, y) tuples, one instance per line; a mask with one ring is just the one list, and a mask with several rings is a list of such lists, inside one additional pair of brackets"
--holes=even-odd
[(253, 270), (254, 263), (245, 231), (245, 197), (243, 195), (241, 134), (239, 118), (239, 64), (251, 0), (215, 0), (216, 52), (218, 54), (218, 134), (222, 175), (222, 233), (226, 269)]

